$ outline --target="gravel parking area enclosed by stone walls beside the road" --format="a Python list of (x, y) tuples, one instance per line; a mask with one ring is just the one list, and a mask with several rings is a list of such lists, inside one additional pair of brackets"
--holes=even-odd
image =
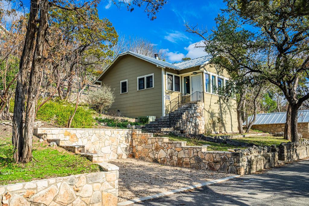
[(172, 167), (138, 159), (116, 159), (108, 162), (119, 167), (118, 202), (235, 175)]

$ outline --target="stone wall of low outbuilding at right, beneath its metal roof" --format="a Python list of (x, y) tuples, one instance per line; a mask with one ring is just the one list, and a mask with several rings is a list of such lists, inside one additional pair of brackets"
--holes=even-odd
[[(300, 132), (304, 138), (309, 138), (308, 122), (298, 123), (298, 132)], [(284, 132), (284, 124), (258, 124), (253, 125), (252, 129), (260, 130), (263, 132)]]

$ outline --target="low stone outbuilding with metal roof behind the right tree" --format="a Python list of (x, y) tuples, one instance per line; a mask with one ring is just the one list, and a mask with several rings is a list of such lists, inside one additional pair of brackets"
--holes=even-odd
[[(251, 121), (253, 116), (248, 117), (248, 121)], [(286, 123), (286, 112), (275, 112), (266, 114), (257, 114), (256, 121), (252, 125), (252, 129), (260, 130), (263, 132), (284, 132), (284, 126)], [(243, 123), (246, 125), (246, 122)], [(298, 111), (298, 132), (303, 137), (309, 137), (309, 110)]]

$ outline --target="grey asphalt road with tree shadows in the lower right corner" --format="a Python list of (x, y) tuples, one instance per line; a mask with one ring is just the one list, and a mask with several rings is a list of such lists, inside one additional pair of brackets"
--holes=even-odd
[(309, 159), (134, 205), (309, 205)]

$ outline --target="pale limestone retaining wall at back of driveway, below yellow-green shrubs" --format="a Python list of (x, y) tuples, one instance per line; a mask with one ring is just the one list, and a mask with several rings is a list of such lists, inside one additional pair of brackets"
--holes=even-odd
[(130, 129), (35, 128), (34, 135), (46, 135), (58, 145), (85, 145), (86, 153), (102, 154), (103, 160), (127, 158), (132, 152)]

